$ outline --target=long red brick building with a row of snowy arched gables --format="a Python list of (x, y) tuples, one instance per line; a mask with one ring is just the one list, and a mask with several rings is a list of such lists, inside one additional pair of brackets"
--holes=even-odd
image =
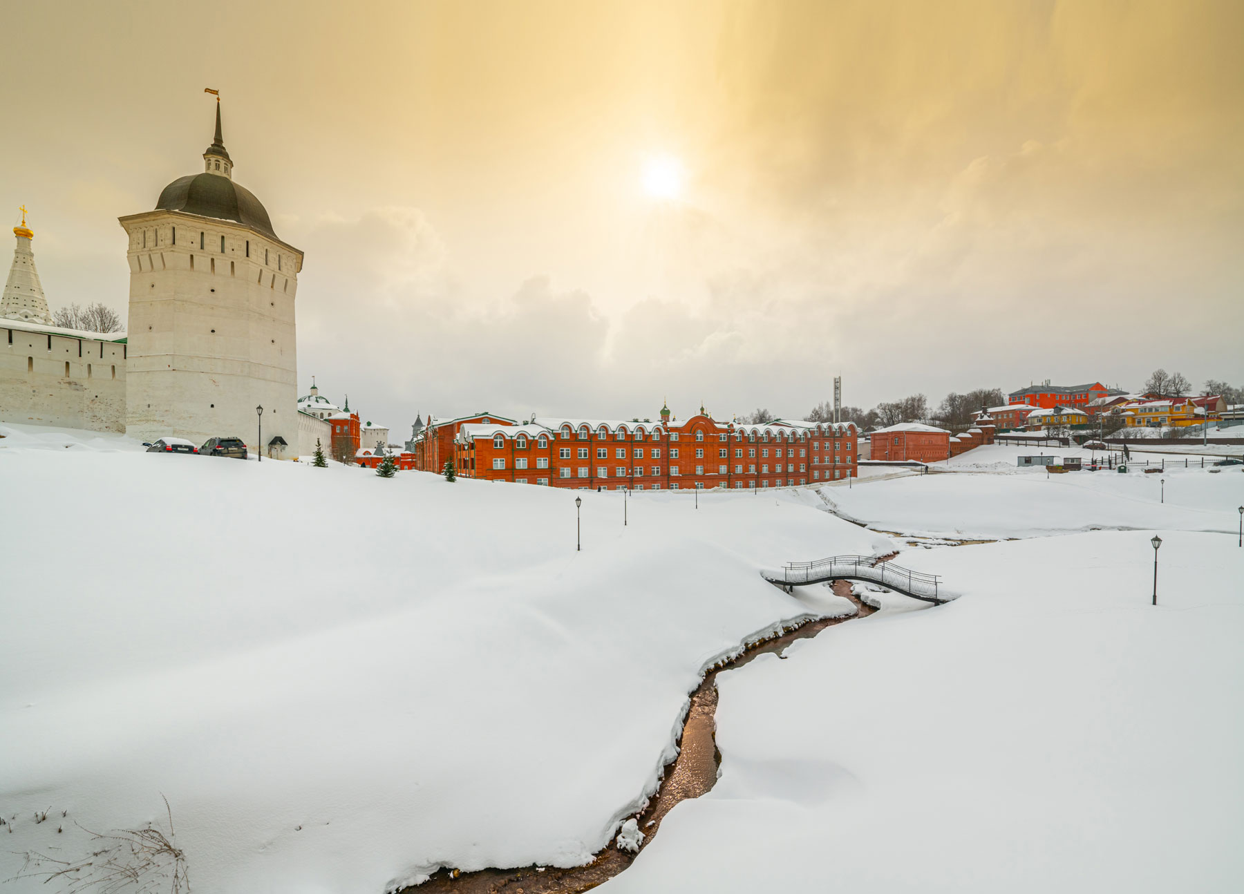
[(845, 480), (857, 472), (851, 423), (719, 423), (707, 414), (658, 423), (532, 419), (463, 423), (458, 474), (551, 487), (759, 489)]

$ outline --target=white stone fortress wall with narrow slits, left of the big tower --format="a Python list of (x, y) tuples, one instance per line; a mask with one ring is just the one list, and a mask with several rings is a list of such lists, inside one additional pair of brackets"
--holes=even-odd
[(0, 422), (124, 431), (126, 352), (0, 321)]

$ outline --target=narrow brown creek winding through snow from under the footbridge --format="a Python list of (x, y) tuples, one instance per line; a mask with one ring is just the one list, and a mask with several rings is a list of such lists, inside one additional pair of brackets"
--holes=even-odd
[[(880, 561), (891, 558), (886, 556)], [(815, 637), (821, 630), (855, 618), (865, 618), (876, 609), (851, 594), (851, 584), (837, 581), (833, 584), (837, 596), (855, 603), (857, 613), (846, 618), (822, 618), (811, 620), (780, 637), (756, 643), (723, 668), (709, 670), (704, 680), (692, 693), (690, 709), (679, 740), (678, 757), (666, 766), (666, 775), (656, 796), (648, 807), (638, 816), (639, 831), (643, 832), (643, 846), (647, 847), (661, 829), (661, 821), (679, 801), (698, 798), (717, 783), (718, 766), (722, 755), (717, 750), (715, 712), (717, 712), (717, 675), (722, 670), (733, 670), (754, 660), (765, 653), (780, 653), (796, 639)], [(641, 849), (642, 849), (641, 847)], [(479, 872), (459, 873), (442, 869), (422, 885), (403, 888), (398, 894), (578, 894), (590, 890), (613, 878), (634, 859), (634, 854), (620, 850), (611, 841), (596, 858), (581, 867), (559, 869), (556, 867), (521, 867), (519, 869), (480, 869)]]

